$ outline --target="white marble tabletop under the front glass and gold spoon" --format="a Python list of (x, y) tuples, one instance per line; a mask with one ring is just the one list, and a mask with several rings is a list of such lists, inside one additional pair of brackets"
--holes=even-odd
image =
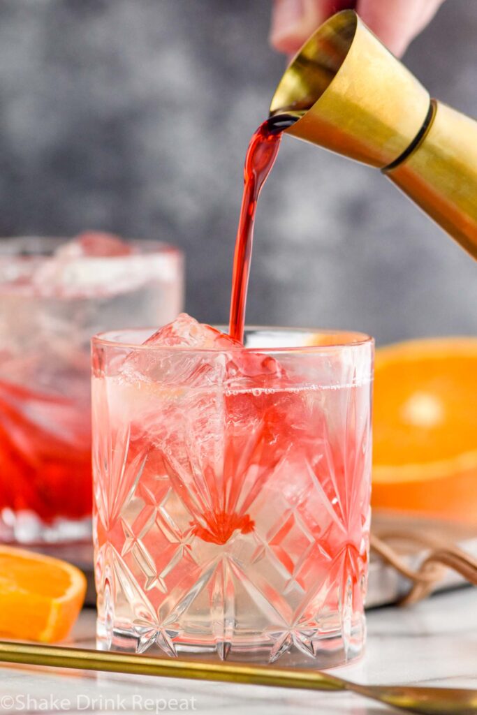
[[(94, 612), (85, 611), (74, 641), (92, 645)], [(368, 613), (368, 647), (337, 674), (363, 683), (421, 683), (477, 689), (477, 591), (463, 588), (410, 608)], [(2, 667), (0, 714), (57, 711), (242, 715), (375, 715), (358, 696), (262, 686), (199, 683), (58, 669)], [(389, 711), (389, 710), (388, 710)]]

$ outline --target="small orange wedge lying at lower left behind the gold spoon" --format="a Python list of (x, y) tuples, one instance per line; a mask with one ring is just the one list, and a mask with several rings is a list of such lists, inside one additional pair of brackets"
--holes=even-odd
[(71, 630), (82, 608), (86, 578), (57, 558), (0, 546), (0, 633), (52, 643)]

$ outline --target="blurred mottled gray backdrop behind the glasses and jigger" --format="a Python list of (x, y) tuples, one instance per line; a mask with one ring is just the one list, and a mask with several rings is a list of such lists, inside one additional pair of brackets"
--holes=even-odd
[[(174, 242), (187, 310), (227, 320), (247, 140), (285, 59), (268, 0), (0, 0), (0, 236)], [(405, 62), (477, 116), (477, 1)], [(262, 194), (248, 322), (378, 342), (477, 334), (477, 264), (372, 169), (286, 137)]]

